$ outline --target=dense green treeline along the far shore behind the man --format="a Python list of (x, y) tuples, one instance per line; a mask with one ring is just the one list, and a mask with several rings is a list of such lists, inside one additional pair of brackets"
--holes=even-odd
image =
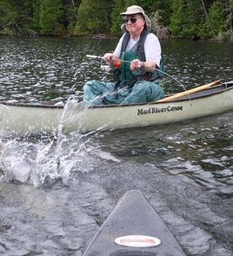
[(2, 35), (120, 35), (140, 5), (159, 38), (233, 41), (233, 0), (0, 0)]

